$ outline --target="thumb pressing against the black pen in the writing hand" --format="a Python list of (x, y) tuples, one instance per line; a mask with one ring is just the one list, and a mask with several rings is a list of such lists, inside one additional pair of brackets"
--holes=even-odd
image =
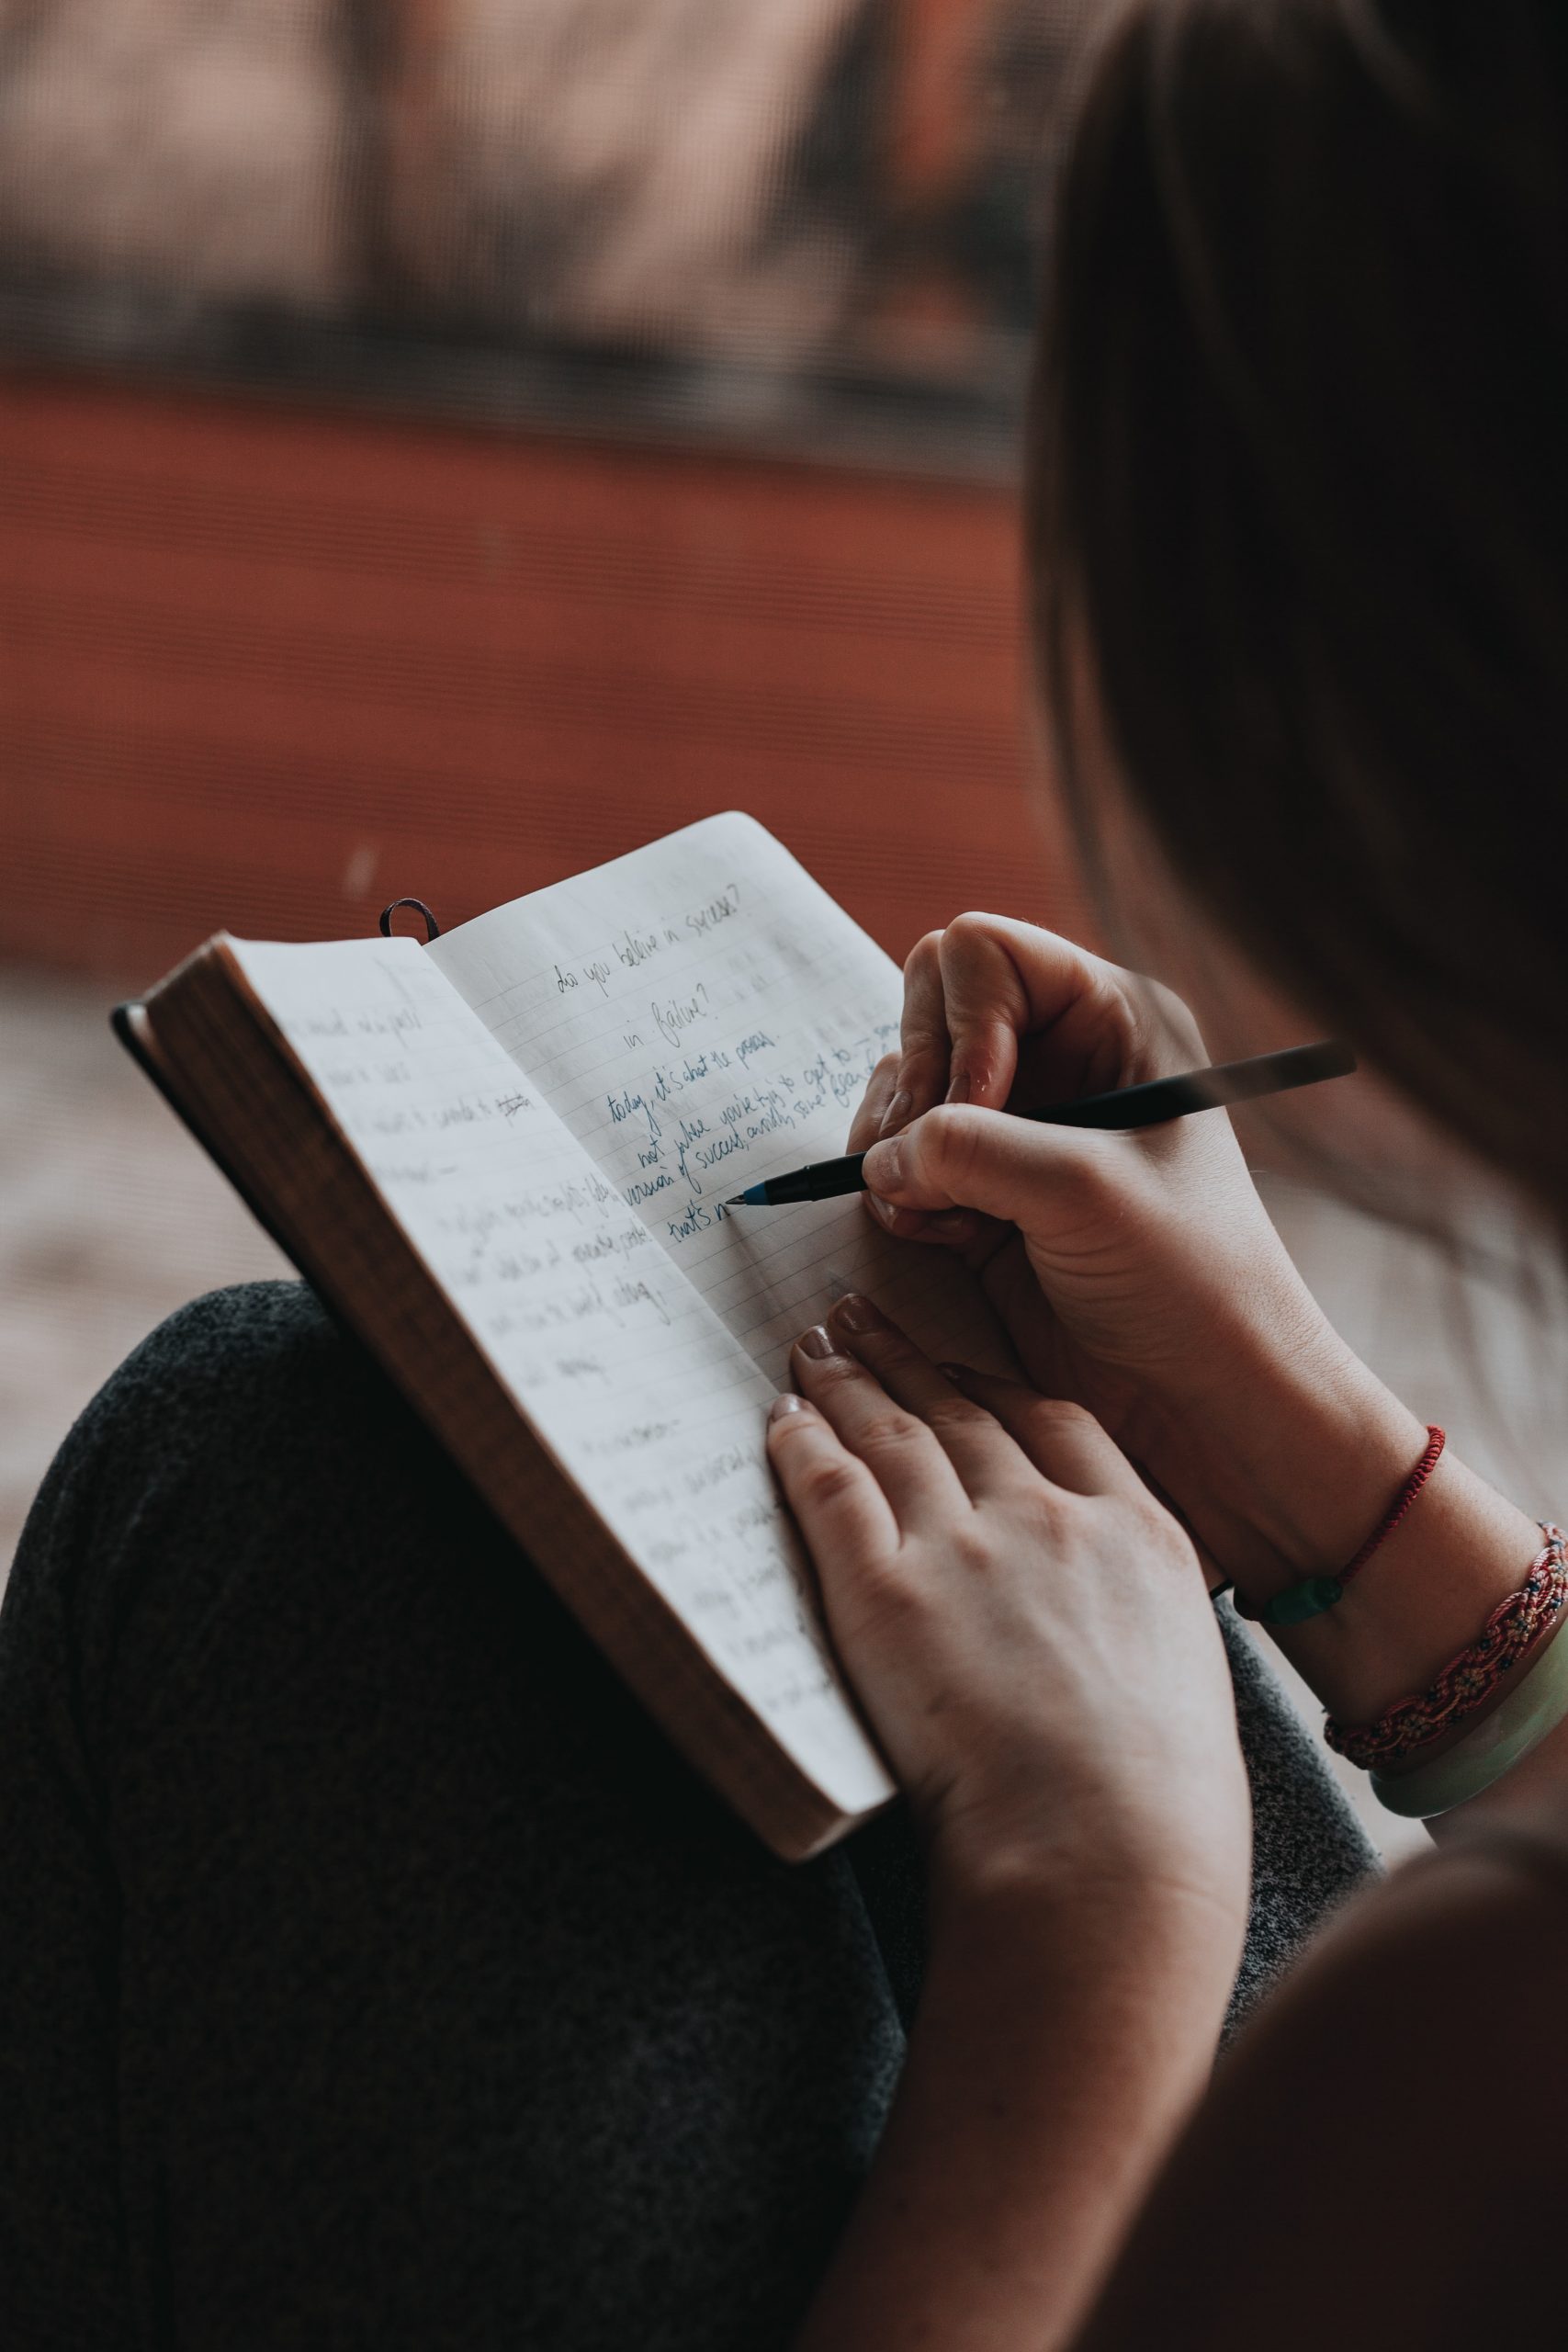
[(1063, 1185), (1100, 1190), (1105, 1136), (945, 1103), (865, 1155), (865, 1188), (896, 1209), (978, 1209), (1025, 1230)]

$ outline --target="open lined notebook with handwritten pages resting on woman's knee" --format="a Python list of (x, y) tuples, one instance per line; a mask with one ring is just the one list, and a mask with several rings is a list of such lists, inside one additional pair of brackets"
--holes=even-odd
[(766, 1468), (790, 1338), (867, 1289), (1006, 1364), (832, 1157), (898, 1037), (882, 950), (712, 816), (421, 946), (219, 936), (120, 1035), (670, 1738), (780, 1853), (891, 1795)]

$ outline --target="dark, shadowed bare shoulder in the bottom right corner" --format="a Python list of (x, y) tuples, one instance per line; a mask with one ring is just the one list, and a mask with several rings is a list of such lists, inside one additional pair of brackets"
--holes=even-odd
[[(1352, 1903), (1262, 2004), (1084, 2338), (1241, 2352), (1523, 2340), (1561, 2314), (1568, 1837), (1497, 1825)], [(1173, 2312), (1180, 2314), (1175, 2326)]]

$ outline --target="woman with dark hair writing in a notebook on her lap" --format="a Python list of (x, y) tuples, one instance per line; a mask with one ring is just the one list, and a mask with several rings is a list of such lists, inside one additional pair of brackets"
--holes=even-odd
[[(1549, 1211), (1568, 993), (1519, 840), (1568, 736), (1566, 92), (1523, 0), (1140, 0), (1070, 148), (1030, 492), (1107, 877), (1157, 840), (1305, 1016)], [(1281, 1635), (1354, 1738), (1474, 1649), (1542, 1531), (1429, 1461), (1225, 1122), (997, 1117), (1199, 1056), (1171, 1000), (966, 917), (912, 957), (860, 1112), (879, 1214), (983, 1265), (1034, 1383), (931, 1367), (846, 1301), (771, 1423), (924, 1837), (907, 2058), (898, 1823), (759, 1856), (303, 1294), (155, 1334), (5, 1604), (7, 2345), (1523, 2324), (1549, 2234), (1519, 2183), (1568, 2089), (1535, 1992), (1568, 1959), (1563, 1733), (1206, 2089), (1244, 1745), (1253, 1978), (1361, 1856), (1244, 1663), (1237, 1738), (1246, 1649), (1199, 1550), (1265, 1609), (1403, 1508)]]

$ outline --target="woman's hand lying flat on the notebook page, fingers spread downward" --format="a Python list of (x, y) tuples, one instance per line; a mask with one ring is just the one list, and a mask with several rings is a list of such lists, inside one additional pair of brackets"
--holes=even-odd
[(1246, 1771), (1178, 1522), (1091, 1414), (940, 1371), (867, 1298), (795, 1376), (771, 1461), (936, 1879), (1168, 1889), (1239, 1943)]

